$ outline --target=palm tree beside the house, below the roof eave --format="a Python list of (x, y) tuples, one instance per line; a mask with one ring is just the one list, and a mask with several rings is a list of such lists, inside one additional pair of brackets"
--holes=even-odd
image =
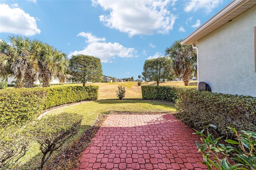
[(192, 45), (181, 45), (181, 41), (175, 41), (172, 46), (167, 47), (165, 55), (172, 59), (174, 73), (181, 75), (184, 85), (187, 86), (192, 73), (196, 71), (196, 50)]

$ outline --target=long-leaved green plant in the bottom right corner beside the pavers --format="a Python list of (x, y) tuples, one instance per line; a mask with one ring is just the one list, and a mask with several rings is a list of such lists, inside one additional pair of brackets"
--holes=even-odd
[[(215, 125), (210, 126), (216, 129)], [(212, 134), (209, 133), (208, 128), (207, 136), (203, 134), (204, 130), (201, 130), (201, 132), (195, 130), (196, 133), (194, 134), (199, 134), (202, 141), (202, 144), (196, 141), (198, 152), (204, 158), (204, 162), (201, 163), (205, 164), (209, 170), (212, 170), (213, 167), (217, 170), (255, 170), (256, 132), (242, 130), (242, 133), (238, 133), (235, 128), (227, 128), (236, 134), (236, 140), (228, 139), (225, 141), (238, 146), (239, 149), (218, 143), (222, 137), (214, 139)], [(229, 158), (231, 152), (234, 153), (235, 158)], [(234, 164), (232, 160), (236, 160), (239, 163)]]

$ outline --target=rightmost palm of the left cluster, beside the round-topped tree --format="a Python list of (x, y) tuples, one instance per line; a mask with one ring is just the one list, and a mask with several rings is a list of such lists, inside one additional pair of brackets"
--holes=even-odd
[(53, 78), (65, 78), (68, 68), (68, 59), (65, 53), (58, 51), (47, 43), (42, 45), (38, 59), (39, 77), (43, 81), (43, 87), (49, 87)]

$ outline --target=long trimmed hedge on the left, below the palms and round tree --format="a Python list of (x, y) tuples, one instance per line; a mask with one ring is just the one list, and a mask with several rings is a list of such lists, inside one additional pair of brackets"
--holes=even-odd
[(32, 121), (43, 109), (97, 99), (97, 86), (0, 90), (0, 128)]

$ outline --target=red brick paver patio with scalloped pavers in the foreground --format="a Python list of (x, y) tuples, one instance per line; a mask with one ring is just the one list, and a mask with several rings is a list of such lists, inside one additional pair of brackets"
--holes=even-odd
[(193, 132), (173, 115), (109, 115), (73, 170), (207, 170)]

